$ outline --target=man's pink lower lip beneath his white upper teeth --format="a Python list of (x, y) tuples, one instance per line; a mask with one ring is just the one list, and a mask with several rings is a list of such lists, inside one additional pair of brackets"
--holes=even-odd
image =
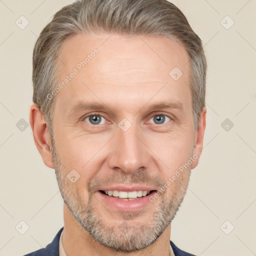
[(134, 200), (120, 200), (113, 196), (109, 196), (104, 193), (101, 193), (100, 191), (96, 191), (96, 192), (99, 194), (102, 200), (105, 201), (105, 203), (108, 206), (117, 208), (118, 210), (122, 210), (122, 211), (139, 210), (145, 207), (149, 202), (152, 203), (149, 200), (149, 197), (154, 196), (154, 193), (156, 193), (156, 191), (153, 191), (146, 196), (137, 197), (138, 199), (134, 199)]

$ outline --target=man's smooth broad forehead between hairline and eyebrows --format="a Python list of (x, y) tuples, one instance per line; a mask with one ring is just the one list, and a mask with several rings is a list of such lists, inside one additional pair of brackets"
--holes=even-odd
[[(58, 57), (58, 82), (69, 79), (56, 98), (63, 107), (86, 101), (92, 94), (94, 99), (104, 98), (104, 103), (117, 94), (122, 104), (145, 103), (153, 94), (153, 99), (171, 96), (191, 102), (188, 54), (170, 38), (77, 34), (63, 44)], [(176, 80), (173, 74), (182, 75)]]

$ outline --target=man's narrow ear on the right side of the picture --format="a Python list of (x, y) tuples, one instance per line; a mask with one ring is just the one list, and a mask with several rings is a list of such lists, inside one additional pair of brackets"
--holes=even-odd
[(206, 126), (206, 107), (204, 106), (202, 108), (202, 111), (199, 117), (198, 127), (196, 130), (196, 135), (194, 139), (193, 155), (197, 155), (197, 158), (195, 159), (195, 157), (193, 157), (194, 161), (192, 162), (191, 169), (195, 168), (199, 162), (199, 158), (202, 152), (205, 126)]

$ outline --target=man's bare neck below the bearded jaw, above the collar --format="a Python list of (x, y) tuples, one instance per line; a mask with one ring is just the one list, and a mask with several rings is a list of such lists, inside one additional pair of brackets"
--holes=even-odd
[(170, 224), (163, 233), (149, 246), (139, 251), (114, 251), (95, 240), (74, 218), (68, 207), (64, 204), (64, 229), (62, 233), (63, 248), (66, 256), (138, 256), (163, 255), (174, 256), (170, 247)]

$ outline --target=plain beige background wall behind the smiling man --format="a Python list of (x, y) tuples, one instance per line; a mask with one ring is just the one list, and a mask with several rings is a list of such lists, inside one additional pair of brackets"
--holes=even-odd
[[(44, 247), (63, 225), (54, 171), (43, 164), (30, 126), (21, 131), (16, 123), (29, 120), (35, 40), (71, 2), (0, 0), (0, 255)], [(204, 148), (171, 240), (196, 255), (256, 255), (256, 0), (172, 2), (202, 39), (208, 74)], [(15, 24), (21, 15), (29, 21), (24, 29)], [(229, 29), (226, 15), (234, 21)], [(228, 131), (226, 118), (234, 124)], [(15, 229), (21, 220), (29, 226), (23, 235)]]

